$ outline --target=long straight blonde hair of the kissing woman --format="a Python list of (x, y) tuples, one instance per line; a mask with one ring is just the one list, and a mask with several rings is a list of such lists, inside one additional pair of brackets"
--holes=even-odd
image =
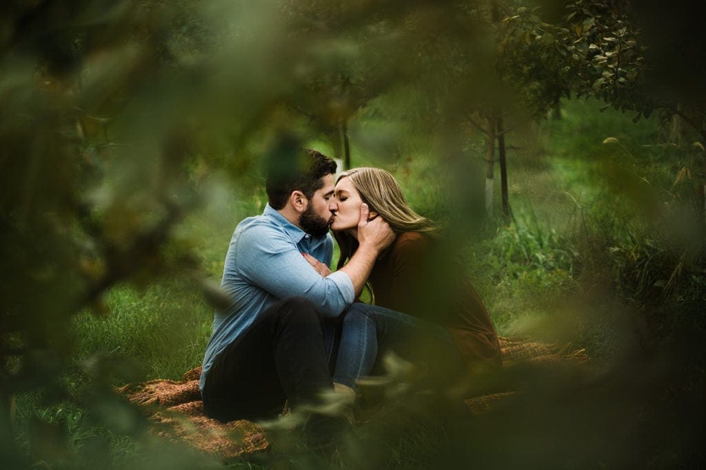
[[(436, 225), (432, 221), (412, 210), (397, 180), (387, 171), (365, 166), (344, 171), (336, 183), (341, 178), (351, 180), (363, 202), (368, 204), (370, 211), (377, 212), (384, 218), (397, 235), (405, 232), (436, 230)], [(335, 232), (334, 236), (341, 251), (338, 259), (338, 268), (341, 268), (358, 249), (358, 240), (343, 231)]]

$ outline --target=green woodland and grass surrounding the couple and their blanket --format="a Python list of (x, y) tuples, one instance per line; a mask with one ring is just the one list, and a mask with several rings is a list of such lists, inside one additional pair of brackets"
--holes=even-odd
[[(221, 466), (148, 433), (114, 387), (200, 364), (229, 237), (265, 204), (263, 162), (302, 145), (392, 171), (453, 235), (501, 334), (591, 358), (581, 373), (515, 370), (522, 398), (474, 421), (370, 423), (337, 466), (698, 466), (693, 8), (4, 2), (4, 467)], [(231, 465), (307, 463), (302, 450)]]

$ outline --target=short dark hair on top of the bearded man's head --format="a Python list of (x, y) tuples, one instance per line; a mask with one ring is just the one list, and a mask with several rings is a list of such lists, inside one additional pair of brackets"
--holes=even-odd
[(323, 187), (321, 178), (336, 173), (336, 162), (320, 151), (301, 149), (286, 160), (270, 163), (265, 184), (268, 202), (276, 210), (287, 204), (294, 191), (301, 191), (306, 199), (311, 199), (313, 193)]

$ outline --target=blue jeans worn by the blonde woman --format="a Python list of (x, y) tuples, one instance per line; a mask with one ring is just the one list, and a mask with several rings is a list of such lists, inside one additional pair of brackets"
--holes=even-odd
[(463, 373), (460, 354), (448, 331), (428, 321), (376, 305), (353, 304), (342, 320), (333, 381), (351, 388), (379, 369), (378, 359), (393, 351), (429, 366), (435, 385), (448, 385)]

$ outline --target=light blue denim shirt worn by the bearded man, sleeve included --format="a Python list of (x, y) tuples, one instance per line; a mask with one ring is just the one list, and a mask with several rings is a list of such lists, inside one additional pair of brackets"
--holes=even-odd
[(269, 204), (261, 216), (246, 218), (235, 228), (221, 280), (233, 304), (215, 312), (213, 333), (203, 357), (201, 390), (218, 354), (280, 299), (305, 297), (328, 317), (338, 316), (352, 304), (353, 283), (347, 274), (335, 272), (322, 278), (302, 252), (330, 266), (333, 237), (304, 233)]

